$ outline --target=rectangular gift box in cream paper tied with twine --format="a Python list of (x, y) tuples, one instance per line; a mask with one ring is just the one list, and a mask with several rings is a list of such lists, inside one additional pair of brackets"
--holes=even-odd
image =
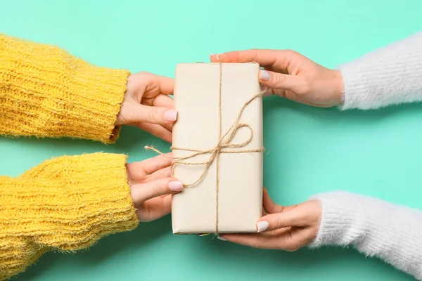
[(177, 65), (172, 168), (185, 188), (172, 197), (174, 234), (257, 232), (263, 150), (259, 70), (257, 63)]

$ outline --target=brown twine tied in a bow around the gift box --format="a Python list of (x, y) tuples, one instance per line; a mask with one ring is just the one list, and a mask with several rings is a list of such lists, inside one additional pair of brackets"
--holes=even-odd
[[(231, 127), (222, 135), (222, 63), (219, 63), (219, 102), (218, 102), (218, 109), (219, 109), (219, 141), (217, 142), (217, 145), (215, 145), (214, 148), (210, 148), (209, 150), (195, 150), (191, 148), (174, 148), (171, 147), (171, 150), (184, 150), (193, 152), (190, 155), (184, 156), (184, 157), (171, 157), (173, 160), (172, 162), (172, 175), (174, 175), (174, 168), (177, 165), (186, 165), (186, 166), (205, 166), (203, 173), (200, 175), (200, 177), (193, 183), (184, 184), (185, 188), (191, 187), (193, 185), (198, 184), (200, 181), (203, 180), (205, 175), (207, 174), (208, 169), (210, 168), (210, 165), (212, 162), (216, 162), (216, 170), (217, 170), (217, 184), (216, 184), (216, 192), (217, 192), (217, 204), (216, 204), (216, 218), (215, 218), (215, 233), (218, 233), (218, 193), (219, 193), (219, 177), (218, 177), (218, 162), (219, 162), (219, 154), (220, 153), (251, 153), (251, 152), (262, 152), (264, 151), (264, 148), (257, 148), (257, 149), (249, 149), (249, 150), (227, 150), (227, 148), (243, 148), (245, 145), (248, 145), (252, 141), (253, 137), (253, 131), (252, 127), (249, 124), (239, 124), (239, 119), (241, 119), (241, 116), (243, 114), (243, 110), (245, 110), (245, 107), (248, 106), (252, 100), (255, 100), (255, 98), (259, 98), (261, 96), (264, 96), (264, 93), (267, 92), (267, 89), (260, 91), (260, 93), (255, 94), (247, 100), (243, 106), (241, 107), (241, 110), (239, 110), (238, 115), (235, 119), (235, 122)], [(247, 128), (250, 131), (249, 138), (244, 141), (243, 143), (231, 143), (231, 140), (233, 140), (234, 136), (236, 135), (236, 132), (238, 129), (241, 128)], [(156, 148), (153, 148), (151, 146), (146, 146), (146, 150), (153, 150), (157, 152), (160, 155), (165, 155), (164, 153), (160, 152), (160, 150), (157, 150)], [(198, 155), (205, 155), (210, 154), (210, 158), (207, 159), (205, 162), (184, 162), (186, 159), (191, 159), (193, 157), (196, 157)], [(165, 155), (166, 157), (169, 157)]]

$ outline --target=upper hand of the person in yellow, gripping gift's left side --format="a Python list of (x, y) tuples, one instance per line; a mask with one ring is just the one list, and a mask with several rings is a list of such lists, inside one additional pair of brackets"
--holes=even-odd
[(172, 142), (174, 110), (173, 79), (148, 72), (132, 74), (127, 79), (126, 93), (116, 125), (131, 125)]

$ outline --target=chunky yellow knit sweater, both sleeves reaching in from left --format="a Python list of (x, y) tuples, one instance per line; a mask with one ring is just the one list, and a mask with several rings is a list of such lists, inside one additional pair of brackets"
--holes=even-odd
[[(113, 143), (129, 72), (0, 34), (0, 134)], [(0, 176), (0, 280), (50, 249), (75, 251), (137, 226), (126, 157), (59, 157)]]

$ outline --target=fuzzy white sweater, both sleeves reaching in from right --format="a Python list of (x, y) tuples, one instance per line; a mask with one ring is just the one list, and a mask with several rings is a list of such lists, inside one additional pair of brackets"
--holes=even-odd
[[(422, 32), (338, 67), (341, 109), (374, 109), (422, 100)], [(322, 204), (321, 226), (310, 247), (352, 245), (422, 280), (422, 211), (349, 192), (311, 199)]]

